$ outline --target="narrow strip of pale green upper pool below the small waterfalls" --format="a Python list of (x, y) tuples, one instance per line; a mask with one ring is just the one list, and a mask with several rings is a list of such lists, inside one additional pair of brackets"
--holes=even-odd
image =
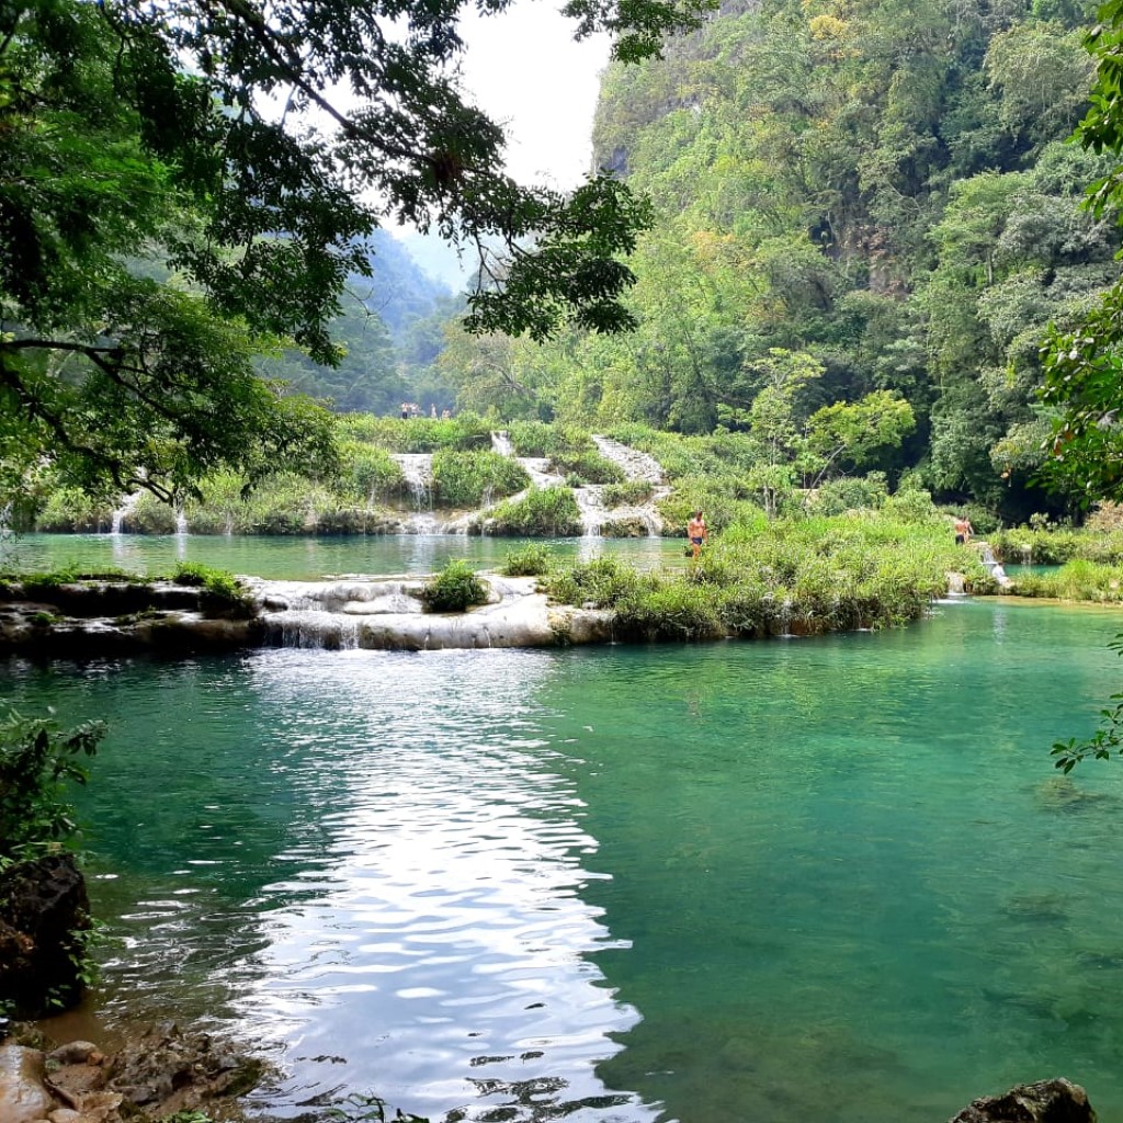
[[(536, 539), (541, 541), (541, 539)], [(26, 535), (0, 544), (0, 564), (58, 569), (74, 564), (166, 572), (176, 562), (203, 562), (232, 573), (312, 581), (345, 573), (372, 576), (432, 573), (449, 558), (477, 568), (497, 566), (523, 539), (465, 535), (382, 535), (336, 538), (221, 537), (210, 535)], [(562, 538), (545, 545), (559, 557), (619, 555), (638, 565), (683, 564), (683, 542), (664, 538)]]

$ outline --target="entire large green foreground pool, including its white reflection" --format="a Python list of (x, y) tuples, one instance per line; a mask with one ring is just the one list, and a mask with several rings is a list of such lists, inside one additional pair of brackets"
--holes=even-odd
[(112, 722), (102, 1016), (263, 1039), (283, 1113), (931, 1123), (1066, 1075), (1110, 1120), (1121, 774), (1048, 747), (1121, 627), (2, 674)]

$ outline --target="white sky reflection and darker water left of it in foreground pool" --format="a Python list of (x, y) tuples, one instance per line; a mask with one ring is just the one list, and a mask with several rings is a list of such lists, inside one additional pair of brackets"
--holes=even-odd
[(117, 714), (85, 807), (119, 874), (93, 885), (110, 1020), (252, 1026), (282, 1114), (346, 1088), (433, 1119), (654, 1115), (595, 1075), (637, 1014), (587, 958), (613, 941), (540, 736), (555, 666), (286, 650), (56, 678), (64, 716)]

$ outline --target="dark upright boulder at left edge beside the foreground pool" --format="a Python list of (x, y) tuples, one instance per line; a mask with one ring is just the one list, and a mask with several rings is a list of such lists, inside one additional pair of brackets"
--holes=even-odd
[(85, 879), (73, 855), (24, 861), (0, 874), (0, 1001), (21, 1017), (76, 1002), (83, 983), (75, 933), (89, 928)]

